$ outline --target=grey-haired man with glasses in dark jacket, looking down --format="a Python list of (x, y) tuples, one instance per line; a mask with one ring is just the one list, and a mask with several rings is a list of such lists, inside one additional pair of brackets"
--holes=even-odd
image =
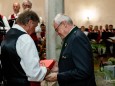
[(58, 72), (50, 73), (45, 79), (57, 80), (59, 86), (96, 86), (92, 48), (87, 36), (64, 14), (57, 14), (53, 25), (63, 45)]

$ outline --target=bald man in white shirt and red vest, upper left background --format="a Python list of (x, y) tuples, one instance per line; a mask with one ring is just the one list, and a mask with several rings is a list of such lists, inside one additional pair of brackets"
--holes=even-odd
[(16, 23), (16, 19), (20, 14), (20, 4), (18, 2), (13, 3), (13, 11), (14, 13), (8, 17), (10, 27), (12, 27)]

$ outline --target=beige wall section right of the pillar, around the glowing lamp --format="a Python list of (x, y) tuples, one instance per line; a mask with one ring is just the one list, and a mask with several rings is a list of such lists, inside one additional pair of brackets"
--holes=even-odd
[[(65, 13), (69, 15), (76, 25), (88, 26), (113, 24), (115, 27), (115, 0), (65, 0)], [(95, 19), (89, 21), (82, 19), (81, 11), (93, 9), (96, 11)], [(85, 14), (84, 14), (85, 15)]]

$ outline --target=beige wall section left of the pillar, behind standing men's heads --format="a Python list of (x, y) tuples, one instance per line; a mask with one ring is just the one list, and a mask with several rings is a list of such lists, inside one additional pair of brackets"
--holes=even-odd
[[(0, 13), (8, 17), (13, 13), (12, 4), (14, 2), (19, 2), (21, 5), (20, 11), (22, 12), (22, 2), (23, 0), (0, 0)], [(32, 9), (37, 12), (37, 14), (44, 18), (44, 0), (31, 0)]]

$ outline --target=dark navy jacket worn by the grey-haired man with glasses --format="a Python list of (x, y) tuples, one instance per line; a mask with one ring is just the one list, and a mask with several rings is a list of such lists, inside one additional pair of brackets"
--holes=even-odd
[(58, 66), (59, 86), (96, 86), (92, 49), (77, 27), (64, 39)]

